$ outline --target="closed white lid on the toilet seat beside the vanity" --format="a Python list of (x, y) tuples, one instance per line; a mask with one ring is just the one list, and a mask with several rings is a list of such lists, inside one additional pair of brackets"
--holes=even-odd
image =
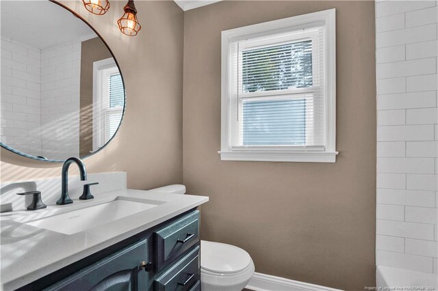
[(251, 257), (240, 247), (201, 240), (201, 268), (214, 273), (237, 273), (250, 265)]

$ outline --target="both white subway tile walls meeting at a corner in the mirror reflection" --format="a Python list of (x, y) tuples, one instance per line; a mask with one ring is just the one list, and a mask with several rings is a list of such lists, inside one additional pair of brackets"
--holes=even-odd
[(34, 156), (78, 156), (81, 43), (41, 51), (2, 37), (0, 47), (1, 142)]

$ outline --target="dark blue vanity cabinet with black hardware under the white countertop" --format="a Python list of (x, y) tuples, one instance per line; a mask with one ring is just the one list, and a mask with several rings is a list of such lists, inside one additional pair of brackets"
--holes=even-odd
[(190, 210), (19, 290), (201, 290), (200, 247)]

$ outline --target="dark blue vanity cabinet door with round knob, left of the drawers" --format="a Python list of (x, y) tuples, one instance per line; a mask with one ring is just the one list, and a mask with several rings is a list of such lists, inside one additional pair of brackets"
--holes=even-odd
[(46, 290), (149, 290), (149, 272), (140, 266), (142, 262), (149, 262), (148, 253), (147, 240), (141, 240), (83, 268)]

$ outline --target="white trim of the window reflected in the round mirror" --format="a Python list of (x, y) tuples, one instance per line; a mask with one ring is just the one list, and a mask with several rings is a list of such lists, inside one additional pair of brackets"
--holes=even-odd
[(101, 147), (105, 146), (105, 131), (106, 125), (102, 121), (102, 98), (99, 96), (99, 72), (106, 68), (116, 67), (114, 58), (101, 59), (93, 63), (93, 148), (92, 152), (96, 152)]

